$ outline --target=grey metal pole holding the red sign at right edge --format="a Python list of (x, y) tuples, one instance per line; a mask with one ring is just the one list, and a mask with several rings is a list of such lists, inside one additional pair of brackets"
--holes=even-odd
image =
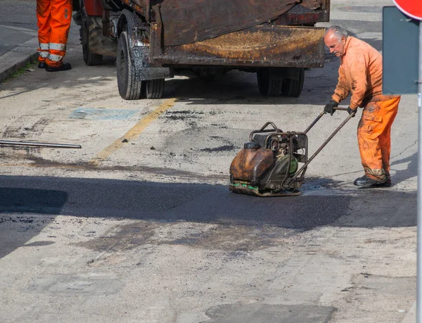
[(422, 21), (419, 22), (419, 74), (418, 74), (418, 220), (416, 260), (416, 322), (422, 323)]

